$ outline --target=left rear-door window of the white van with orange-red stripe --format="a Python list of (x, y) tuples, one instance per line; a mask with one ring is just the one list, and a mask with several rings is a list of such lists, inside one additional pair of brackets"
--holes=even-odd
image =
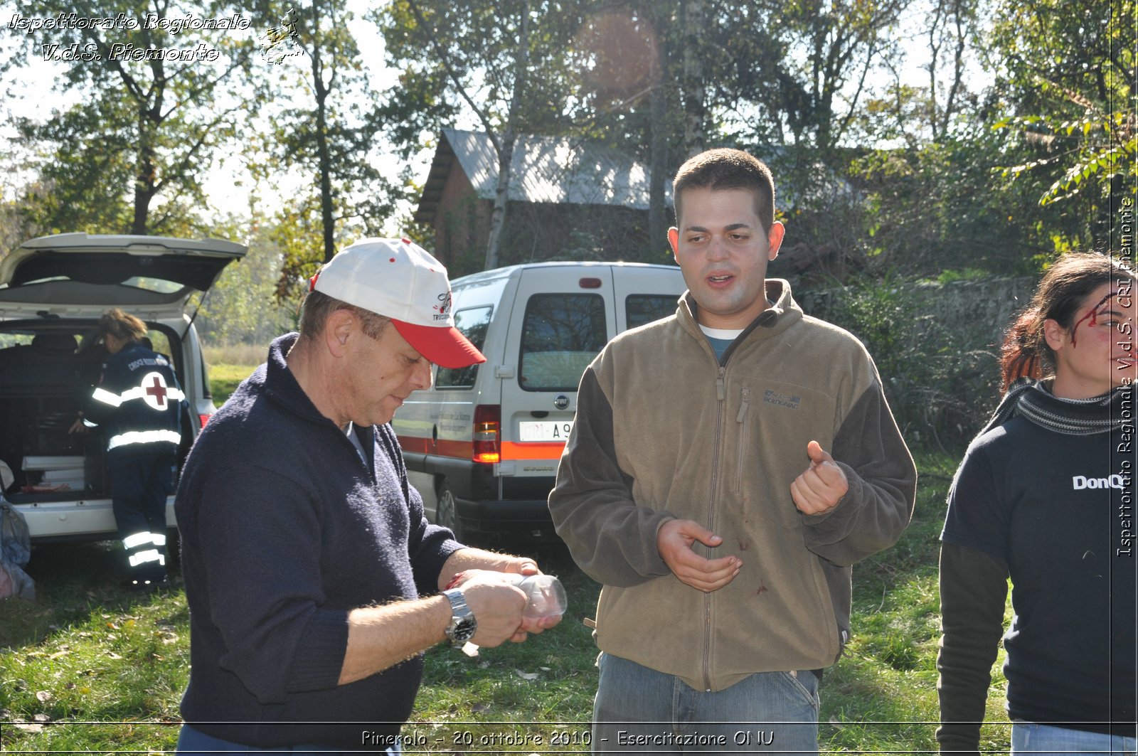
[(535, 294), (521, 326), (518, 384), (525, 391), (576, 391), (607, 332), (601, 295)]

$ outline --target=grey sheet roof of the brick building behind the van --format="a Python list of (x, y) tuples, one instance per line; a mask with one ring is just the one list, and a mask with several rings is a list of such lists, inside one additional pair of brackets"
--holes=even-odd
[[(494, 199), (497, 154), (485, 132), (444, 129), (415, 220), (435, 217), (455, 161), (481, 199)], [(519, 135), (514, 145), (509, 198), (529, 203), (649, 207), (649, 167), (619, 150), (567, 137)], [(671, 187), (665, 187), (671, 205)]]

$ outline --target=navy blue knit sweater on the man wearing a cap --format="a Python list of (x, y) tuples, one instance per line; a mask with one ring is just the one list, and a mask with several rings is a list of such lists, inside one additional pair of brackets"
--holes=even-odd
[(374, 748), (411, 713), (414, 658), (337, 685), (355, 607), (437, 592), (460, 547), (429, 525), (389, 426), (357, 429), (374, 474), (284, 363), (295, 335), (198, 438), (178, 490), (190, 605), (182, 716), (272, 748)]

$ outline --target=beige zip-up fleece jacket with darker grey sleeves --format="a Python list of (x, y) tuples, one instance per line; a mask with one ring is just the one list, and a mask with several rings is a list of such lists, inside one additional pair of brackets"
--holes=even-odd
[[(700, 690), (756, 672), (833, 664), (849, 633), (851, 569), (890, 547), (916, 469), (881, 379), (847, 331), (803, 315), (790, 285), (718, 362), (690, 294), (671, 318), (621, 334), (585, 371), (549, 506), (577, 564), (603, 584), (601, 650)], [(798, 511), (791, 482), (817, 441), (849, 479), (836, 508)], [(659, 527), (721, 535), (708, 557), (740, 574), (703, 593), (660, 558)]]

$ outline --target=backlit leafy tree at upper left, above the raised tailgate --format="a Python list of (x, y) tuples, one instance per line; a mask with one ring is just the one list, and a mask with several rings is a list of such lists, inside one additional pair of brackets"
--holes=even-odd
[[(25, 2), (20, 14), (52, 18), (50, 1)], [(6, 67), (34, 58), (65, 61), (60, 90), (80, 100), (47, 118), (15, 118), (39, 190), (28, 192), (32, 221), (47, 232), (187, 233), (199, 229), (201, 187), (221, 146), (238, 135), (238, 113), (255, 110), (256, 88), (233, 87), (251, 65), (253, 42), (233, 30), (150, 28), (147, 14), (191, 13), (218, 18), (249, 13), (225, 0), (187, 6), (166, 0), (79, 0), (79, 18), (134, 19), (135, 28), (64, 25), (50, 31), (8, 27), (16, 41)], [(77, 25), (76, 25), (77, 26)], [(187, 59), (151, 59), (134, 51), (189, 51)], [(69, 59), (68, 56), (77, 56)]]

